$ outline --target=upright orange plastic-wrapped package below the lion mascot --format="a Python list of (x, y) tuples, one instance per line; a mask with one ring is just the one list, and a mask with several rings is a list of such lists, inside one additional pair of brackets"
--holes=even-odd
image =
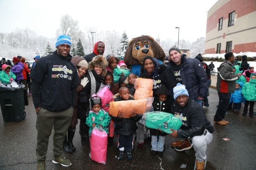
[(134, 82), (134, 100), (153, 97), (153, 79), (136, 78)]

